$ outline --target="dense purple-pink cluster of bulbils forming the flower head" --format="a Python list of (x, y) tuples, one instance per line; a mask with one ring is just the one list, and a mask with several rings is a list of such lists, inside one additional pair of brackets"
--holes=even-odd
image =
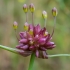
[(51, 42), (52, 36), (48, 33), (46, 27), (41, 28), (40, 24), (34, 25), (32, 20), (32, 24), (25, 22), (24, 29), (25, 31), (19, 33), (19, 45), (16, 48), (21, 52), (18, 53), (23, 56), (35, 53), (38, 58), (48, 58), (47, 50), (53, 49), (55, 44)]

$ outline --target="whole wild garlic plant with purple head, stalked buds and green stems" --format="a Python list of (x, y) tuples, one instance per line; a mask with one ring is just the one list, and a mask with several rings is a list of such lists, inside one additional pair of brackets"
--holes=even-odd
[[(32, 14), (31, 24), (28, 23), (28, 10), (30, 10)], [(48, 57), (70, 56), (70, 54), (48, 55), (47, 53), (47, 50), (52, 50), (56, 46), (54, 42), (51, 41), (52, 36), (54, 34), (56, 16), (57, 16), (57, 9), (55, 7), (52, 9), (52, 16), (54, 18), (54, 26), (53, 26), (51, 34), (49, 34), (49, 32), (46, 29), (46, 21), (47, 21), (46, 11), (42, 12), (42, 17), (44, 19), (43, 28), (41, 28), (40, 24), (37, 24), (37, 25), (34, 24), (35, 6), (33, 3), (31, 3), (29, 6), (24, 4), (23, 11), (26, 15), (26, 22), (24, 23), (24, 31), (19, 32), (20, 38), (18, 38), (17, 36), (18, 23), (15, 21), (13, 24), (13, 28), (15, 30), (15, 34), (19, 42), (19, 45), (17, 45), (16, 48), (10, 48), (7, 46), (0, 45), (0, 48), (22, 55), (23, 57), (27, 57), (31, 55), (28, 70), (32, 70), (35, 57), (48, 59)]]

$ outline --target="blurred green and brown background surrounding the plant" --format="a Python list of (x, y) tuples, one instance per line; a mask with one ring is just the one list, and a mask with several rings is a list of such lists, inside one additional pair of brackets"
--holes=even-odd
[[(12, 27), (16, 20), (19, 24), (18, 32), (23, 30), (25, 14), (23, 4), (34, 3), (34, 22), (44, 26), (41, 17), (42, 10), (48, 13), (47, 30), (52, 32), (53, 17), (51, 9), (55, 6), (58, 9), (57, 24), (53, 41), (56, 48), (49, 50), (48, 54), (68, 53), (70, 54), (70, 0), (0, 0), (0, 44), (15, 47), (18, 42)], [(29, 23), (31, 23), (31, 13), (29, 11)], [(27, 70), (30, 57), (20, 55), (0, 49), (0, 70)], [(70, 57), (55, 57), (49, 59), (35, 59), (33, 70), (70, 70)]]

